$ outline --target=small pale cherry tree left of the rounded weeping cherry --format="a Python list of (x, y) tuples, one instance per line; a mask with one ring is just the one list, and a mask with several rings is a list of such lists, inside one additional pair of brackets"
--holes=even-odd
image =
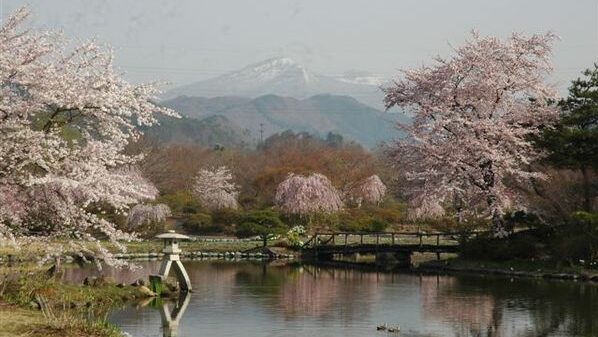
[(199, 170), (193, 186), (193, 195), (209, 209), (239, 208), (239, 188), (226, 166)]

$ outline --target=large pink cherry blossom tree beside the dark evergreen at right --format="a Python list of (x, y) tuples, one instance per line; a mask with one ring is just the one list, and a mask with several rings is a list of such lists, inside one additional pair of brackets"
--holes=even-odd
[(530, 166), (542, 154), (529, 139), (557, 117), (549, 104), (555, 92), (545, 84), (554, 39), (474, 32), (452, 57), (405, 71), (385, 88), (387, 108), (414, 116), (399, 125), (409, 137), (392, 146), (391, 158), (417, 182), (416, 214), (442, 213), (457, 198), (468, 210), (483, 210), (495, 235), (507, 234), (503, 210), (521, 200), (506, 179), (544, 178)]

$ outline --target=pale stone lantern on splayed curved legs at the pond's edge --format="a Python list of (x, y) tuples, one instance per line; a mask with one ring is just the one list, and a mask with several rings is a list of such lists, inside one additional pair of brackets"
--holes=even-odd
[(152, 278), (164, 281), (170, 273), (170, 268), (173, 268), (181, 290), (190, 291), (191, 280), (189, 279), (189, 275), (187, 274), (179, 255), (181, 253), (179, 242), (182, 240), (189, 240), (190, 238), (186, 235), (175, 233), (173, 230), (168, 231), (168, 233), (157, 235), (156, 238), (164, 241), (164, 248), (162, 249), (164, 257), (162, 258), (159, 274), (152, 275)]

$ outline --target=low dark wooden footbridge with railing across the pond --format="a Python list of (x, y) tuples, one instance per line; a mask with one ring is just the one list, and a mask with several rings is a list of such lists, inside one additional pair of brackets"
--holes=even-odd
[(392, 258), (399, 265), (409, 266), (413, 253), (458, 253), (460, 242), (479, 235), (481, 231), (426, 233), (315, 233), (305, 242), (302, 256), (318, 261), (331, 261), (335, 257), (375, 255), (376, 261)]

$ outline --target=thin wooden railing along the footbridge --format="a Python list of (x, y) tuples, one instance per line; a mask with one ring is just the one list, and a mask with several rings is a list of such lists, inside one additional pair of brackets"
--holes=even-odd
[(316, 232), (304, 244), (304, 249), (317, 246), (338, 245), (458, 245), (463, 238), (487, 233), (487, 231), (461, 232)]

